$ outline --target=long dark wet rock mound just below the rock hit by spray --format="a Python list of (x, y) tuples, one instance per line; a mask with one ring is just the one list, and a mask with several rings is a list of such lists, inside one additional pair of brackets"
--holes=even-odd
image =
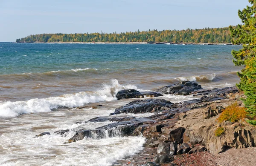
[(172, 108), (174, 104), (164, 99), (147, 99), (147, 100), (134, 100), (131, 103), (126, 104), (115, 109), (113, 114), (121, 113), (141, 113), (141, 112), (155, 112), (160, 110), (168, 110)]

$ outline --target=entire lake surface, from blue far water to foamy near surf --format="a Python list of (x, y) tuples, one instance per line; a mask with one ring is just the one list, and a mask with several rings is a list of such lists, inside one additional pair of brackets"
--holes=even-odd
[[(145, 139), (112, 137), (63, 144), (75, 132), (111, 122), (81, 123), (108, 116), (131, 100), (121, 89), (150, 91), (182, 80), (203, 88), (239, 82), (232, 49), (241, 46), (150, 44), (0, 43), (0, 164), (111, 165), (143, 149)], [(172, 102), (192, 96), (164, 95)], [(99, 109), (91, 106), (102, 104)], [(87, 109), (74, 107), (87, 105)], [(150, 114), (125, 116), (146, 117)], [(33, 138), (41, 132), (51, 135)]]

